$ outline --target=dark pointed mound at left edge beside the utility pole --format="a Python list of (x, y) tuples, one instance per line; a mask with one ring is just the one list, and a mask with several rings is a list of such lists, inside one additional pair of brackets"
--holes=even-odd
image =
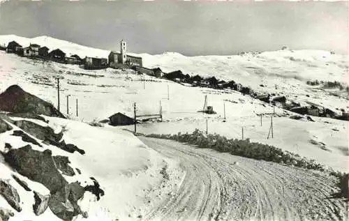
[(9, 86), (0, 94), (0, 109), (4, 112), (43, 114), (65, 118), (52, 104), (23, 91), (18, 85)]

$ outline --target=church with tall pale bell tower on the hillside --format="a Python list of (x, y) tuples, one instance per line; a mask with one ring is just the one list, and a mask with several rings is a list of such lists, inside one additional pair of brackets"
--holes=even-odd
[(129, 68), (132, 66), (142, 67), (142, 58), (139, 56), (131, 56), (127, 54), (126, 42), (121, 40), (120, 52), (110, 52), (108, 56), (108, 64), (110, 68)]

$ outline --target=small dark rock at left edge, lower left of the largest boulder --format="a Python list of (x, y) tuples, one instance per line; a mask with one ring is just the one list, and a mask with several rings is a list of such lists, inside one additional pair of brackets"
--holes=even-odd
[(0, 195), (6, 199), (8, 204), (12, 206), (16, 211), (22, 211), (20, 207), (20, 195), (15, 188), (13, 188), (8, 181), (4, 181), (0, 179)]

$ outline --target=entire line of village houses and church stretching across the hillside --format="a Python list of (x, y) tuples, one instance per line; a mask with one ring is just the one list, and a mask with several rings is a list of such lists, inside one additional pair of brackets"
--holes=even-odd
[[(0, 49), (6, 50), (8, 53), (15, 53), (19, 56), (26, 56), (35, 59), (44, 59), (55, 61), (59, 63), (68, 63), (83, 65), (84, 69), (96, 70), (104, 68), (131, 68), (138, 74), (145, 74), (154, 77), (163, 77), (170, 79), (174, 82), (181, 84), (190, 84), (191, 86), (202, 86), (214, 89), (232, 89), (241, 92), (243, 95), (249, 95), (253, 98), (262, 100), (272, 105), (277, 105), (283, 109), (288, 109), (291, 112), (298, 114), (308, 114), (312, 116), (327, 116), (339, 118), (344, 116), (337, 116), (335, 112), (325, 107), (318, 105), (306, 105), (301, 106), (297, 102), (287, 100), (285, 96), (275, 96), (270, 94), (257, 93), (247, 86), (243, 86), (233, 80), (225, 82), (224, 80), (216, 79), (216, 77), (201, 77), (200, 75), (191, 76), (184, 74), (181, 70), (175, 70), (170, 73), (163, 73), (160, 68), (146, 68), (142, 65), (142, 57), (131, 56), (127, 54), (126, 42), (121, 40), (120, 52), (111, 51), (108, 58), (99, 58), (85, 56), (83, 59), (77, 54), (66, 56), (61, 49), (53, 49), (50, 51), (48, 47), (40, 46), (37, 44), (30, 44), (28, 47), (22, 47), (15, 41), (8, 43), (7, 47), (0, 47)], [(344, 119), (349, 119), (349, 116), (345, 116)]]

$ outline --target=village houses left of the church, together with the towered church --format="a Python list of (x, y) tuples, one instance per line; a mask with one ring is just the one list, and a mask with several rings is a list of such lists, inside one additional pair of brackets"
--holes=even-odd
[(126, 52), (126, 42), (121, 40), (120, 52), (110, 52), (108, 59), (101, 57), (85, 56), (80, 58), (77, 54), (67, 56), (61, 49), (50, 49), (37, 44), (30, 44), (28, 47), (22, 47), (14, 40), (8, 43), (7, 47), (0, 47), (8, 53), (14, 53), (19, 56), (25, 56), (32, 59), (50, 60), (59, 63), (68, 63), (83, 65), (84, 69), (97, 70), (104, 68), (131, 68), (142, 67), (142, 58), (128, 55)]

